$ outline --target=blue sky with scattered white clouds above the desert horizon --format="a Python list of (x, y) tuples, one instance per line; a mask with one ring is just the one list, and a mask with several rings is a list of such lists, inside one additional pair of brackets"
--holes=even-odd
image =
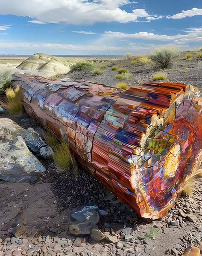
[(0, 0), (0, 54), (202, 46), (202, 0)]

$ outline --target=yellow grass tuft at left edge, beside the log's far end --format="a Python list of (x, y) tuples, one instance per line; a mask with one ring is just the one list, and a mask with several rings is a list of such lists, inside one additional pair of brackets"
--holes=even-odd
[(20, 88), (10, 87), (5, 90), (7, 101), (0, 101), (0, 106), (8, 110), (10, 114), (17, 114), (23, 111), (23, 105), (20, 101)]

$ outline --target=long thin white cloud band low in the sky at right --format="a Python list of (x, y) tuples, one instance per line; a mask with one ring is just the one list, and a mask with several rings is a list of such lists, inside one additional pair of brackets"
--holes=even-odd
[(175, 42), (177, 44), (184, 42), (202, 42), (202, 27), (196, 28), (188, 28), (183, 31), (186, 34), (177, 34), (177, 35), (158, 35), (154, 33), (148, 32), (139, 32), (139, 33), (123, 33), (123, 32), (113, 32), (113, 31), (105, 31), (105, 34), (102, 37), (110, 38), (131, 38), (131, 39), (143, 39), (143, 40), (159, 40), (159, 41), (170, 41)]

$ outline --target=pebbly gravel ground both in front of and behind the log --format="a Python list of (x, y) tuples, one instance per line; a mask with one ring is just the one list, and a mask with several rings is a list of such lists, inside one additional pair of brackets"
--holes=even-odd
[[(133, 72), (131, 83), (151, 81), (157, 72), (151, 71), (151, 65), (132, 67), (129, 63), (124, 60), (122, 66)], [(178, 68), (163, 72), (167, 72), (168, 81), (191, 83), (201, 88), (201, 63), (196, 58), (179, 60)], [(116, 73), (108, 67), (103, 75), (84, 80), (115, 85)], [(1, 114), (0, 118), (3, 117), (43, 135), (43, 128), (25, 113)], [(177, 256), (191, 245), (202, 250), (200, 177), (193, 183), (191, 197), (181, 196), (166, 217), (151, 221), (139, 218), (80, 166), (78, 173), (68, 175), (58, 170), (50, 159), (38, 159), (47, 171), (40, 178), (32, 179), (31, 184), (0, 181), (0, 256)], [(80, 213), (75, 217), (74, 208), (82, 210), (85, 206), (94, 206), (88, 209), (90, 219), (82, 220)], [(91, 235), (78, 234), (84, 226)]]

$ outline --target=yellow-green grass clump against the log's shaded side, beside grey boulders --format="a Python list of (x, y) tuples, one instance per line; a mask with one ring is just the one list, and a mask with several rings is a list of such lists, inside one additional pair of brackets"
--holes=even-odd
[(64, 139), (60, 142), (50, 130), (43, 136), (47, 144), (53, 149), (52, 157), (55, 165), (63, 171), (75, 172), (77, 170), (76, 163), (70, 153), (69, 145)]

